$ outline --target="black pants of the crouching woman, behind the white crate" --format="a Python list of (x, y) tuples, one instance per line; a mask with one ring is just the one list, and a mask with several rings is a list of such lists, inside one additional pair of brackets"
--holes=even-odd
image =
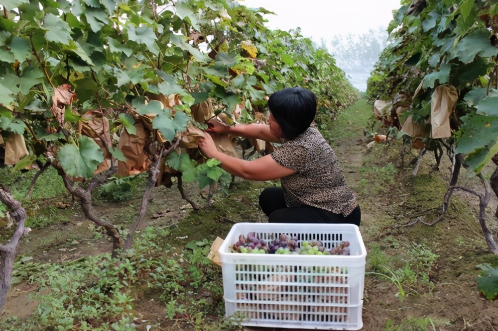
[(259, 195), (259, 206), (268, 223), (349, 223), (360, 226), (360, 206), (344, 216), (315, 207), (287, 207), (281, 187), (267, 187)]

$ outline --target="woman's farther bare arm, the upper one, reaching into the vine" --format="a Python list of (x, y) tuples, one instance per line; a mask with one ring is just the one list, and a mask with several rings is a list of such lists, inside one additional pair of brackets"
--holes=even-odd
[(280, 143), (280, 139), (273, 136), (270, 132), (270, 126), (267, 124), (238, 124), (229, 126), (221, 123), (218, 120), (209, 121), (210, 128), (208, 132), (218, 134), (230, 134), (244, 138), (256, 138), (270, 143)]

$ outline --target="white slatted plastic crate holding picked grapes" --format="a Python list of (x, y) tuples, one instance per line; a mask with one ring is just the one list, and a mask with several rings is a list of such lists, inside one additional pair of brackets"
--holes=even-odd
[[(280, 234), (321, 241), (331, 249), (350, 242), (351, 255), (233, 253), (240, 235), (270, 242)], [(351, 224), (238, 223), (219, 249), (226, 316), (245, 326), (360, 330), (367, 250)]]

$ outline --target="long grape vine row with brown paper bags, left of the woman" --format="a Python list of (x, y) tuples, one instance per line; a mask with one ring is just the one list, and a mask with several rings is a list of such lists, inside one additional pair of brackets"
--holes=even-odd
[[(157, 183), (177, 177), (186, 198), (182, 182), (227, 181), (196, 147), (206, 119), (264, 121), (266, 97), (295, 85), (327, 115), (358, 98), (326, 50), (298, 29), (266, 28), (267, 10), (233, 0), (0, 0), (0, 12), (0, 143), (24, 156), (5, 164), (36, 164), (37, 175), (55, 167), (114, 252), (130, 247)], [(116, 172), (144, 171), (123, 238), (91, 192)]]

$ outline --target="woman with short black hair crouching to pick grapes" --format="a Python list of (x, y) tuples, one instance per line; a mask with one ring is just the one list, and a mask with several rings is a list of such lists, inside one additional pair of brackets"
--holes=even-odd
[(350, 223), (360, 226), (361, 211), (346, 183), (330, 145), (311, 126), (316, 115), (316, 97), (310, 90), (293, 87), (273, 93), (268, 99), (268, 125), (227, 126), (210, 121), (208, 131), (257, 138), (281, 147), (253, 161), (219, 152), (206, 135), (199, 147), (208, 158), (221, 161), (227, 172), (248, 180), (281, 178), (282, 187), (265, 188), (259, 206), (270, 223)]

